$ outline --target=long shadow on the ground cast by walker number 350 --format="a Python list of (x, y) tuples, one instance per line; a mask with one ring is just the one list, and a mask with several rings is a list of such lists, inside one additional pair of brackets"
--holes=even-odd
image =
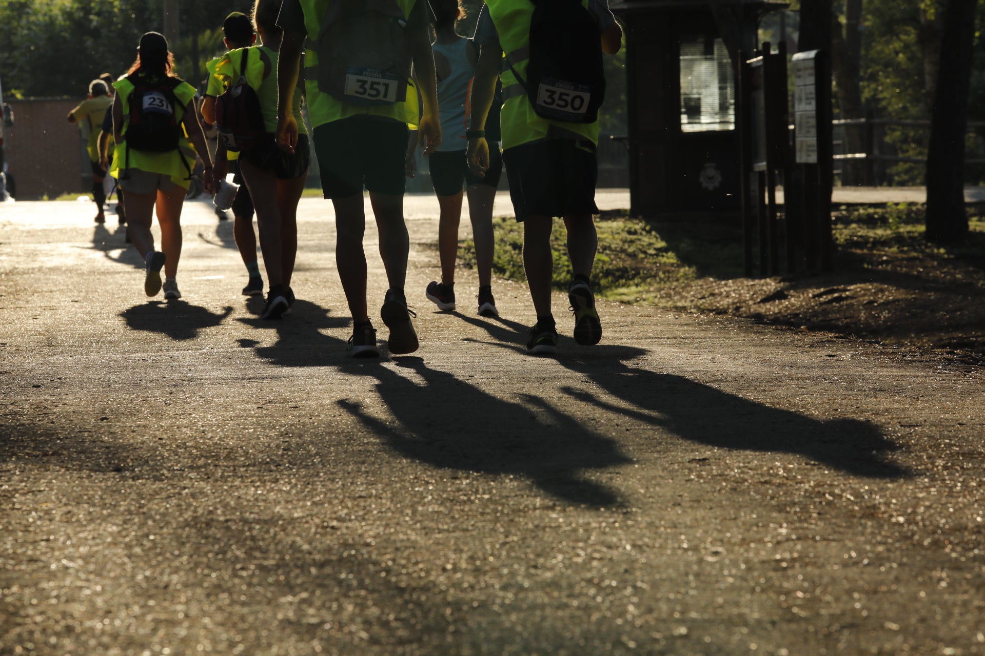
[[(491, 336), (515, 341), (519, 324), (463, 317)], [(512, 348), (499, 344), (503, 348)], [(565, 346), (566, 349), (566, 346)], [(631, 417), (680, 438), (711, 447), (801, 455), (855, 476), (900, 478), (909, 471), (886, 459), (896, 445), (878, 427), (857, 419), (816, 419), (763, 405), (742, 396), (695, 383), (683, 376), (658, 374), (627, 364), (648, 353), (633, 346), (573, 346), (558, 363), (589, 379), (615, 399), (585, 389), (561, 388), (571, 398)]]

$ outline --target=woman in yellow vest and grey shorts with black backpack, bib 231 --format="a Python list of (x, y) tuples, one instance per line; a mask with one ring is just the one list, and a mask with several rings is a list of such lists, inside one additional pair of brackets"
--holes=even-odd
[[(195, 88), (171, 75), (173, 65), (163, 34), (149, 31), (140, 37), (137, 60), (113, 85), (116, 150), (110, 165), (110, 175), (126, 192), (127, 234), (146, 263), (144, 291), (157, 296), (164, 268), (168, 300), (181, 297), (175, 276), (181, 257), (181, 208), (195, 161), (192, 144), (205, 163), (206, 189), (215, 193), (209, 148), (195, 111)], [(155, 250), (151, 233), (155, 209), (162, 251)]]

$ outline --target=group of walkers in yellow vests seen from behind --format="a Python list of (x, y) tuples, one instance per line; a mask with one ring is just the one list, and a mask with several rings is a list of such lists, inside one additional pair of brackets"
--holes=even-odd
[[(91, 89), (86, 102), (94, 106), (87, 111), (83, 103), (70, 120), (100, 116), (97, 98), (105, 97), (99, 100), (103, 110), (111, 107), (115, 149), (108, 171), (123, 191), (128, 237), (146, 263), (147, 295), (164, 289), (165, 299), (181, 296), (176, 282), (180, 214), (200, 158), (208, 192), (215, 194), (230, 173), (241, 185), (231, 209), (248, 272), (243, 294), (263, 292), (255, 213), (268, 282), (261, 318), (290, 313), (296, 209), (313, 149), (323, 195), (335, 209), (336, 263), (353, 317), (351, 354), (379, 355), (366, 297), (363, 190), (388, 282), (379, 311), (389, 330), (388, 349), (416, 351), (416, 315), (405, 292), (410, 242), (403, 195), (405, 176), (414, 176), (421, 148), (440, 206), (441, 279), (427, 285), (427, 299), (441, 310), (456, 307), (458, 227), (467, 194), (479, 269), (478, 313), (498, 314), (492, 218), (505, 163), (516, 217), (524, 222), (524, 267), (537, 312), (527, 351), (557, 351), (550, 245), (555, 216), (567, 227), (574, 338), (598, 343), (602, 328), (589, 275), (597, 248), (601, 53), (619, 50), (622, 30), (606, 0), (580, 5), (487, 0), (474, 38), (456, 32), (462, 18), (459, 0), (256, 0), (251, 17), (233, 13), (226, 20), (229, 52), (207, 67), (200, 112), (202, 120), (219, 127), (214, 156), (195, 89), (174, 75), (164, 36), (145, 33), (136, 61), (112, 83), (115, 92), (105, 85)], [(301, 119), (304, 102), (310, 135)], [(97, 171), (104, 175), (108, 146), (101, 152), (100, 158), (97, 137), (95, 157), (93, 148), (90, 155), (100, 215), (104, 197), (96, 189)], [(155, 209), (161, 250), (151, 233)]]

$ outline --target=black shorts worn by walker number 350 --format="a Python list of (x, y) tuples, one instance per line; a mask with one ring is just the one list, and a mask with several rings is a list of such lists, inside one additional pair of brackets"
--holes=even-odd
[(531, 214), (597, 214), (599, 165), (591, 142), (551, 139), (502, 152), (516, 220)]

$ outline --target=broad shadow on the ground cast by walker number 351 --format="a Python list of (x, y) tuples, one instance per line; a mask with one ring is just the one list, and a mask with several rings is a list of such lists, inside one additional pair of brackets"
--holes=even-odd
[[(416, 357), (396, 365), (408, 375), (385, 366), (352, 371), (376, 378), (396, 425), (373, 416), (360, 401), (337, 402), (397, 452), (442, 469), (520, 476), (567, 504), (625, 506), (617, 491), (580, 475), (630, 462), (613, 440), (540, 397), (527, 394), (525, 404), (510, 402), (429, 369)], [(467, 409), (472, 421), (463, 425), (462, 413), (449, 408)]]

